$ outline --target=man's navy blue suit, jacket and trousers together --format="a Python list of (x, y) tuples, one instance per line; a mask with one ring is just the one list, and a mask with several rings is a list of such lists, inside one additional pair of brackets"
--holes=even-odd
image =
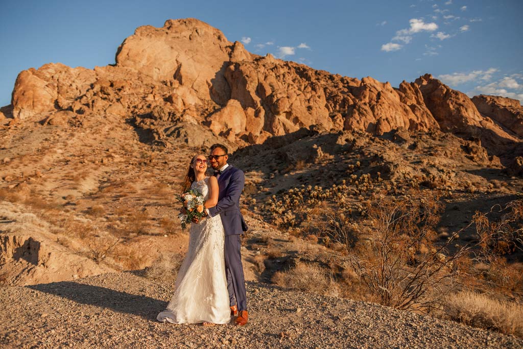
[(240, 235), (247, 231), (247, 225), (240, 212), (240, 196), (245, 185), (245, 175), (231, 165), (218, 177), (218, 203), (209, 208), (209, 216), (220, 215), (225, 232), (225, 274), (230, 305), (237, 305), (238, 311), (247, 310), (247, 295), (242, 265), (242, 244)]

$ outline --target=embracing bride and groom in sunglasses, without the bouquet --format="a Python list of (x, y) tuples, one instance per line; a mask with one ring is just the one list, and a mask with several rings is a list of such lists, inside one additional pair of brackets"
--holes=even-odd
[[(207, 216), (189, 226), (189, 248), (180, 266), (175, 293), (161, 322), (214, 325), (248, 320), (240, 235), (247, 230), (240, 212), (243, 172), (227, 163), (222, 144), (211, 147), (209, 159), (196, 155), (189, 164), (183, 192), (197, 190), (203, 196)], [(208, 164), (214, 175), (206, 176)]]

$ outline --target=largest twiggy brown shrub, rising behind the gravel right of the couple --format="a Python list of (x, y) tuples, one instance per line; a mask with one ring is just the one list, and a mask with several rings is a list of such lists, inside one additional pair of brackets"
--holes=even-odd
[(350, 251), (350, 265), (382, 305), (427, 311), (444, 294), (446, 280), (457, 276), (454, 263), (470, 247), (449, 252), (458, 233), (434, 245), (441, 208), (434, 192), (413, 190), (377, 198), (368, 207), (369, 222), (354, 223), (355, 230), (370, 231), (370, 238)]

